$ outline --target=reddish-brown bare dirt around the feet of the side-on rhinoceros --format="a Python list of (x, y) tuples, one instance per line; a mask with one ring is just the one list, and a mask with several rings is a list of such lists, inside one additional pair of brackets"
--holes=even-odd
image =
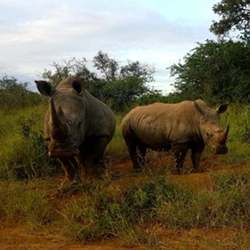
[[(240, 162), (226, 164), (224, 161), (220, 160), (218, 156), (210, 156), (201, 161), (204, 172), (191, 173), (192, 164), (191, 160), (187, 159), (185, 166), (183, 168), (183, 174), (176, 174), (173, 158), (169, 156), (164, 156), (161, 154), (153, 156), (147, 165), (150, 167), (146, 168), (146, 172), (151, 175), (166, 174), (170, 181), (186, 185), (194, 190), (213, 190), (214, 183), (212, 181), (212, 174), (223, 174), (223, 173), (239, 173), (250, 169), (250, 162)], [(132, 164), (130, 160), (126, 160), (120, 163), (113, 164), (111, 173), (115, 173), (118, 176), (114, 179), (114, 184), (118, 184), (126, 188), (131, 182), (137, 183), (143, 180), (145, 175), (139, 173), (134, 174), (132, 169)], [(147, 175), (147, 173), (146, 173)]]

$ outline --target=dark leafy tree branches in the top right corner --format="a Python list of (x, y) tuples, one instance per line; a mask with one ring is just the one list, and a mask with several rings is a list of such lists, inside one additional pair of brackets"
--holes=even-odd
[(219, 36), (226, 36), (230, 31), (238, 31), (243, 41), (250, 42), (249, 0), (222, 0), (214, 5), (213, 11), (221, 19), (213, 22), (210, 31)]

